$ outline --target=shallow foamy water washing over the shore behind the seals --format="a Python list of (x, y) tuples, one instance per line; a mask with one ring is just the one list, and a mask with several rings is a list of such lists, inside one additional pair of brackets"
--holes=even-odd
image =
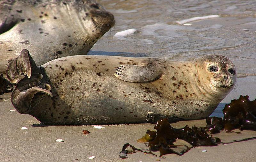
[[(240, 94), (250, 95), (251, 100), (255, 98), (255, 0), (99, 0), (99, 3), (114, 14), (116, 25), (97, 41), (89, 54), (172, 60), (191, 60), (206, 54), (225, 55), (236, 64), (238, 78), (236, 91), (222, 102), (229, 103)], [(189, 22), (192, 25), (175, 23), (207, 15), (220, 17)], [(125, 37), (113, 37), (127, 29), (138, 31)], [(224, 106), (217, 109), (221, 111)]]

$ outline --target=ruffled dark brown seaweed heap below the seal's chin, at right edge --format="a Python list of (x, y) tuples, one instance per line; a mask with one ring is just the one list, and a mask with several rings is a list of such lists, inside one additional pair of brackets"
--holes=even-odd
[(234, 129), (256, 131), (256, 99), (249, 100), (249, 96), (240, 96), (231, 100), (223, 109), (224, 118), (208, 117), (207, 128), (211, 133), (219, 133), (225, 129), (231, 132)]

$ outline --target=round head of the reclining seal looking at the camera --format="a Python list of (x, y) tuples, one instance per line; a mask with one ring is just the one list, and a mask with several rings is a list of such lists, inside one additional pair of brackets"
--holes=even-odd
[(202, 91), (222, 99), (236, 83), (235, 64), (223, 55), (205, 55), (194, 62), (194, 78)]

